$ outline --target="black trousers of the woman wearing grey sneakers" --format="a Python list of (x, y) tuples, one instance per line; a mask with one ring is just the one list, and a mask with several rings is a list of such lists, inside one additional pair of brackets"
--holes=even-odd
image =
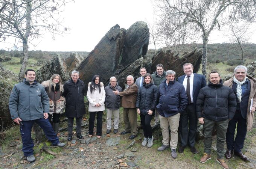
[(142, 127), (143, 127), (143, 133), (145, 138), (152, 139), (152, 128), (150, 125), (152, 119), (152, 115), (146, 114), (142, 115), (140, 114), (140, 120), (142, 122)]

